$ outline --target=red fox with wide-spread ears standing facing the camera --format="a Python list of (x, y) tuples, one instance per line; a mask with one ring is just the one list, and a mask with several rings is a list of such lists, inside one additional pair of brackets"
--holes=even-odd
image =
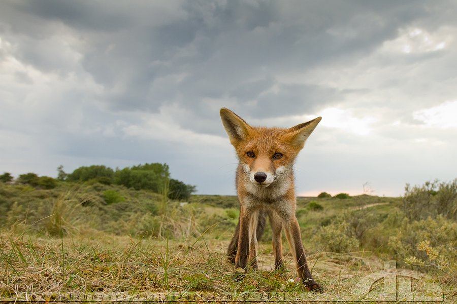
[(295, 216), (297, 200), (293, 185), (293, 163), (306, 139), (322, 119), (318, 117), (289, 129), (252, 127), (227, 108), (220, 117), (239, 164), (236, 187), (240, 219), (228, 246), (228, 260), (235, 268), (257, 268), (257, 242), (268, 215), (273, 231), (275, 269), (283, 267), (282, 229), (297, 263), (297, 272), (308, 290), (323, 292), (314, 281), (305, 257), (300, 227)]

